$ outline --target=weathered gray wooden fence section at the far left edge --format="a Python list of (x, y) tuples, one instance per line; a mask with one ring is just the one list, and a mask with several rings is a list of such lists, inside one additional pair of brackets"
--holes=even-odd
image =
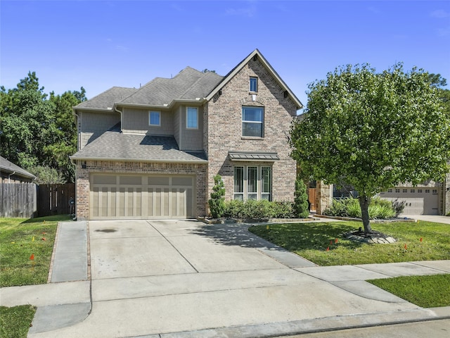
[(32, 218), (36, 215), (36, 184), (0, 183), (0, 217)]

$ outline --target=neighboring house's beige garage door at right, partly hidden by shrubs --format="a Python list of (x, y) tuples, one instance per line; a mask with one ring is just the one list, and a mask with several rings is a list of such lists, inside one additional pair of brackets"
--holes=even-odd
[(402, 215), (438, 215), (439, 188), (397, 187), (382, 192), (380, 197), (394, 201), (405, 201)]

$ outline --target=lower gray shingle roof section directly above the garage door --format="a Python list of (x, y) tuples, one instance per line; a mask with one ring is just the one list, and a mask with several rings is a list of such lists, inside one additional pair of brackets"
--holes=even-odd
[(204, 151), (181, 151), (174, 137), (123, 134), (108, 130), (70, 158), (148, 162), (206, 163)]

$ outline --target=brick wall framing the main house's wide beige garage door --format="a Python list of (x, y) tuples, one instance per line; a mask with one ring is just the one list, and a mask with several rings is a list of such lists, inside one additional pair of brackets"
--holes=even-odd
[(195, 194), (197, 216), (206, 215), (207, 200), (207, 165), (193, 163), (142, 163), (121, 161), (77, 161), (77, 205), (78, 220), (89, 219), (89, 175), (91, 173), (127, 173), (127, 174), (165, 174), (195, 175)]

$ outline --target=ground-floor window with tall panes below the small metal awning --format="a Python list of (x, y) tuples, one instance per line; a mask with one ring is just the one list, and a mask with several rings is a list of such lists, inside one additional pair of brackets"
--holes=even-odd
[(272, 168), (259, 165), (236, 165), (234, 167), (233, 198), (240, 201), (248, 199), (272, 199)]

